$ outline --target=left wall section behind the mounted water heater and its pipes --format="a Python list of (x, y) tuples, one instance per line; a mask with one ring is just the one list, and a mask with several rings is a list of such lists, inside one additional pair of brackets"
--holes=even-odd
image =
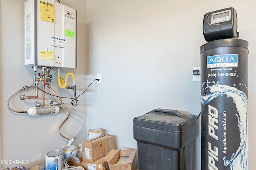
[[(22, 161), (26, 168), (45, 164), (45, 154), (51, 150), (62, 150), (67, 145), (66, 139), (58, 134), (60, 124), (66, 119), (67, 111), (60, 111), (56, 115), (29, 116), (13, 113), (8, 110), (6, 103), (11, 94), (24, 86), (29, 86), (33, 80), (33, 69), (24, 66), (24, 2), (25, 0), (1, 0), (1, 160), (10, 164), (1, 164), (1, 168), (8, 166), (13, 168)], [(68, 72), (76, 76), (77, 94), (81, 94), (86, 88), (86, 1), (61, 0), (62, 4), (70, 6), (78, 11), (78, 68), (61, 69), (61, 76), (65, 78)], [(47, 28), (45, 28), (47, 29)], [(40, 71), (40, 70), (38, 70)], [(64, 92), (58, 88), (57, 71), (51, 71), (52, 83), (50, 86), (63, 97), (73, 97), (72, 90)], [(69, 79), (68, 85), (72, 85)], [(49, 90), (46, 90), (49, 92)], [(22, 91), (26, 95), (35, 95), (35, 88)], [(19, 100), (15, 96), (10, 105), (14, 109), (26, 110), (34, 106), (35, 102), (42, 101), (42, 93), (39, 92), (38, 100)], [(51, 97), (54, 98), (54, 97)], [(54, 98), (57, 102), (58, 99)], [(82, 127), (82, 120), (74, 113), (80, 114), (86, 121), (86, 93), (78, 98), (79, 105), (73, 107), (70, 99), (63, 99), (66, 107), (71, 111), (71, 117), (63, 125), (61, 131), (66, 137), (72, 138)], [(51, 99), (46, 95), (45, 104)], [(86, 125), (83, 132), (77, 136), (74, 144), (86, 140)], [(15, 164), (16, 161), (21, 163)], [(4, 163), (4, 162), (2, 162)]]

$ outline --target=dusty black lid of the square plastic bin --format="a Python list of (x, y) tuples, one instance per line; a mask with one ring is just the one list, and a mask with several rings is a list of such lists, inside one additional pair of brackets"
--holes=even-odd
[(182, 132), (196, 123), (195, 115), (184, 115), (177, 110), (154, 109), (134, 118), (134, 125)]

